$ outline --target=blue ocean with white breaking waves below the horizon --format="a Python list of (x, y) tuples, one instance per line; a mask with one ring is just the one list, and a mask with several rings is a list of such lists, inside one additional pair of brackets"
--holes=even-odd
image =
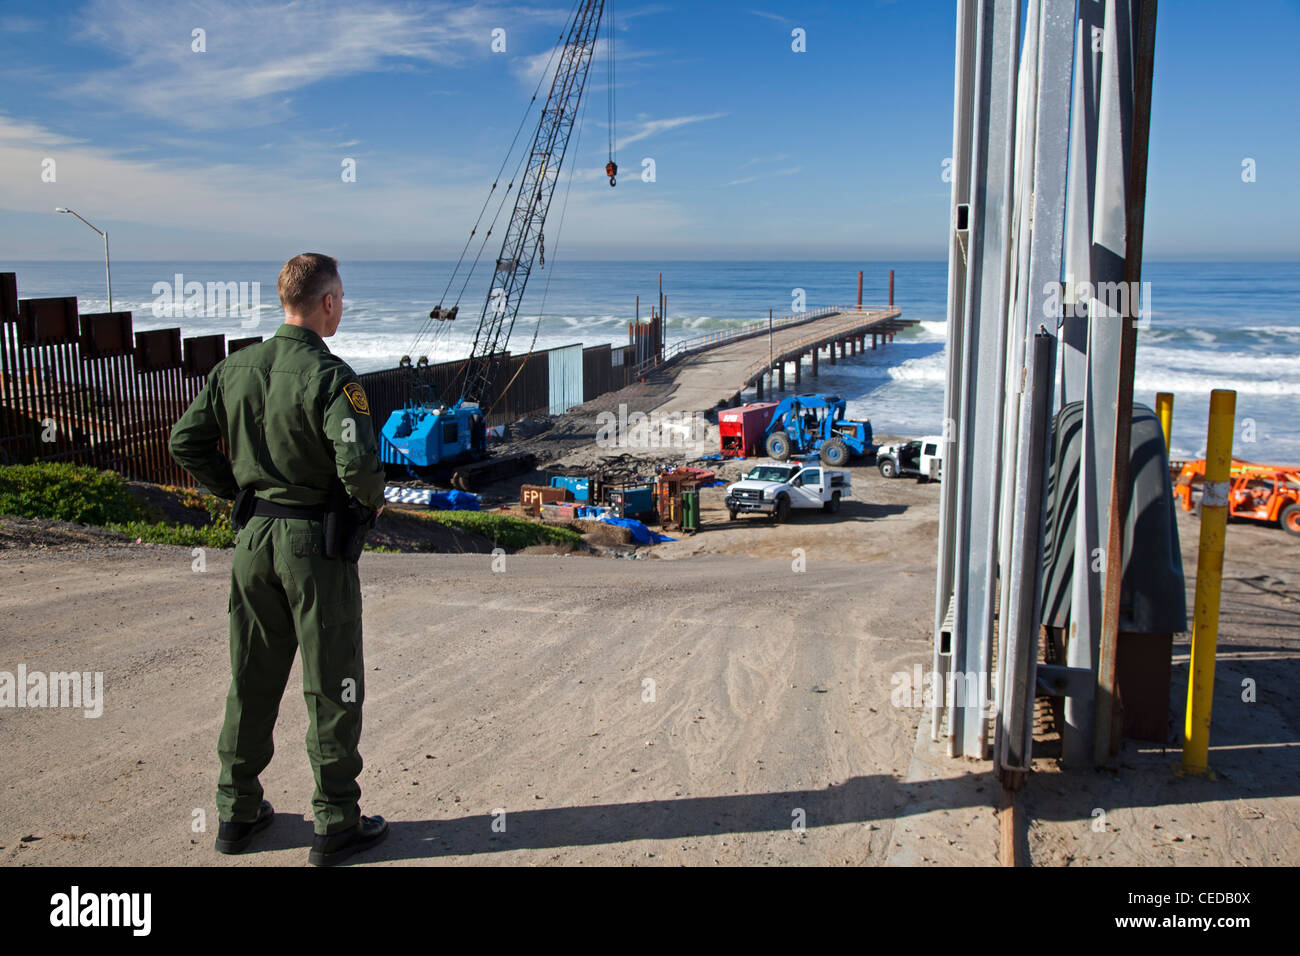
[[(456, 321), (416, 342), (429, 310), (443, 300), (452, 265), (344, 263), (343, 324), (330, 349), (359, 372), (393, 367), (408, 352), (429, 355), (430, 362), (468, 354), (490, 278), (482, 269), (471, 278)], [(883, 434), (937, 432), (945, 372), (944, 261), (560, 260), (534, 269), (510, 347), (526, 351), (534, 336), (537, 349), (625, 345), (636, 297), (641, 317), (649, 319), (660, 272), (671, 342), (766, 319), (768, 310), (786, 315), (800, 304), (798, 290), (809, 308), (852, 304), (858, 269), (863, 302), (883, 304), (890, 268), (896, 304), (919, 325), (875, 354), (833, 368), (823, 364), (818, 389), (844, 395), (850, 415), (870, 418)], [(22, 298), (77, 295), (82, 312), (107, 307), (101, 261), (0, 263), (0, 271), (18, 273)], [(120, 261), (113, 264), (113, 307), (134, 312), (136, 330), (179, 325), (186, 336), (268, 336), (281, 321), (278, 271), (280, 263), (264, 261)], [(1149, 328), (1139, 333), (1135, 394), (1154, 405), (1157, 392), (1174, 393), (1173, 455), (1202, 454), (1209, 393), (1235, 389), (1234, 453), (1258, 462), (1300, 463), (1300, 264), (1150, 261), (1143, 267), (1143, 281), (1150, 284), (1150, 311)], [(209, 284), (247, 284), (244, 311), (185, 315), (190, 282), (202, 284), (205, 295)], [(463, 273), (445, 304), (452, 304), (462, 282)]]

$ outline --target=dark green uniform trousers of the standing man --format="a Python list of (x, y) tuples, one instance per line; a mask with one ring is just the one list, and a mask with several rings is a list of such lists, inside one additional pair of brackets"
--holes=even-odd
[(255, 516), (239, 532), (230, 570), (231, 678), (217, 744), (221, 819), (257, 818), (257, 777), (274, 752), (272, 731), (299, 648), (316, 832), (334, 834), (360, 818), (360, 576), (352, 562), (324, 555), (320, 522)]

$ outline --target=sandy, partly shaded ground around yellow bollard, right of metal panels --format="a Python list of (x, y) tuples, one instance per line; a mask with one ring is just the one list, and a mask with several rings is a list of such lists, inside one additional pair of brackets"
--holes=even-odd
[[(1200, 525), (1184, 512), (1178, 525), (1191, 620)], [(1178, 773), (1190, 653), (1191, 635), (1175, 636), (1166, 748), (1126, 740), (1106, 771), (1036, 762), (1036, 864), (1300, 865), (1300, 540), (1228, 525), (1209, 778)]]

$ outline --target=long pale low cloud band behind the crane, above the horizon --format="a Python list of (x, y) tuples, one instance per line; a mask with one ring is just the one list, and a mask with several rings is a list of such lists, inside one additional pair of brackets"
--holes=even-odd
[[(32, 187), (47, 157), (57, 161), (57, 178)], [(571, 243), (634, 243), (641, 235), (670, 242), (698, 230), (689, 211), (673, 202), (608, 189), (602, 168), (603, 161), (573, 170), (563, 234), (556, 219), (547, 230), (549, 250), (552, 242), (558, 251)], [(486, 183), (477, 168), (456, 169), (432, 183), (422, 161), (394, 165), (364, 157), (354, 185), (300, 164), (165, 164), (72, 140), (3, 113), (0, 169), (26, 170), (26, 176), (0, 177), (0, 209), (48, 213), (53, 220), (56, 206), (75, 208), (114, 230), (113, 251), (125, 259), (229, 258), (224, 251), (230, 248), (298, 247), (308, 226), (322, 247), (454, 255), (474, 221)], [(568, 178), (568, 169), (563, 176)], [(322, 208), (330, 209), (328, 222), (313, 219)], [(430, 222), (446, 224), (446, 235), (430, 239)], [(39, 256), (31, 237), (0, 234), (0, 256), (34, 251)]]

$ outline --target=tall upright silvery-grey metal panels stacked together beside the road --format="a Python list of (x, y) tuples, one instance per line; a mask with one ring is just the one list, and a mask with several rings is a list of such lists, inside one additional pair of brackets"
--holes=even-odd
[(1127, 316), (1080, 284), (1128, 274), (1124, 190), (1144, 5), (1153, 27), (1154, 0), (957, 5), (933, 652), (944, 692), (931, 727), (952, 756), (993, 749), (1004, 770), (1028, 766), (1050, 423), (1075, 399), (1086, 402), (1089, 480), (1078, 489), (1070, 665), (1079, 692), (1067, 697), (1066, 756), (1083, 762), (1092, 752), (1087, 687), (1105, 575), (1096, 549), (1108, 531)]

